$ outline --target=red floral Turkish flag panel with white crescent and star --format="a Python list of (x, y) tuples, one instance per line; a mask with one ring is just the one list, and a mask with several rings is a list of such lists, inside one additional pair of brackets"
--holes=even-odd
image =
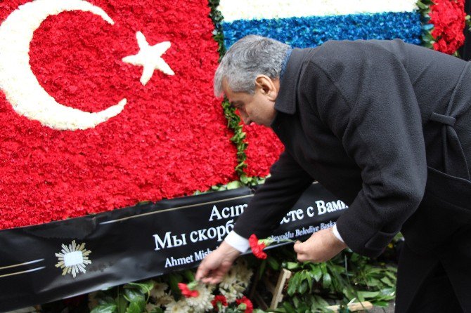
[(0, 229), (236, 178), (205, 0), (0, 2)]

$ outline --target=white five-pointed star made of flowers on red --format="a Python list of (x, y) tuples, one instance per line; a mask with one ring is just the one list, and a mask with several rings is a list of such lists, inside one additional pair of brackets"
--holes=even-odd
[(143, 86), (146, 86), (147, 82), (154, 74), (154, 69), (158, 69), (167, 75), (175, 74), (169, 65), (161, 58), (162, 54), (170, 48), (170, 41), (163, 41), (155, 46), (150, 46), (143, 33), (136, 32), (136, 38), (139, 52), (136, 55), (128, 55), (122, 58), (122, 61), (131, 65), (141, 65), (144, 67), (140, 79)]

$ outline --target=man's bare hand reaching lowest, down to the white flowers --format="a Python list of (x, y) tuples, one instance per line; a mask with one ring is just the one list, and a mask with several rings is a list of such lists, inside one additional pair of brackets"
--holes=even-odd
[(195, 279), (205, 284), (220, 283), (239, 255), (240, 251), (227, 244), (226, 241), (222, 241), (221, 246), (202, 260)]

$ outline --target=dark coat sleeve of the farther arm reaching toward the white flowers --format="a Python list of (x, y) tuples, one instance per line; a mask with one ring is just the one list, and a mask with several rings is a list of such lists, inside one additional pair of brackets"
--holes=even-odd
[(314, 181), (286, 151), (271, 166), (270, 174), (236, 222), (234, 231), (242, 237), (268, 237)]

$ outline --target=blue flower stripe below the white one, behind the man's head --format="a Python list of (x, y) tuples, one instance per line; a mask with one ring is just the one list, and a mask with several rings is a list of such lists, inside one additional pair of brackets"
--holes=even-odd
[(226, 48), (248, 34), (270, 37), (297, 48), (318, 46), (328, 40), (396, 38), (420, 45), (422, 36), (418, 12), (236, 20), (223, 22), (222, 27)]

